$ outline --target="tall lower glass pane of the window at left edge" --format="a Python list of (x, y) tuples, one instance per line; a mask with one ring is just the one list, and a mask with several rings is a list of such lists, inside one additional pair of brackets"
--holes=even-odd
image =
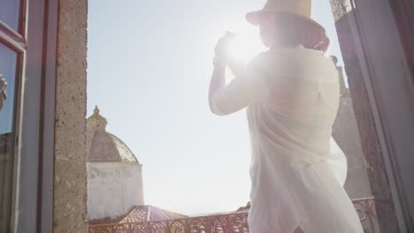
[(0, 43), (0, 74), (7, 82), (7, 98), (0, 109), (0, 232), (7, 232), (10, 222), (17, 63), (18, 54)]

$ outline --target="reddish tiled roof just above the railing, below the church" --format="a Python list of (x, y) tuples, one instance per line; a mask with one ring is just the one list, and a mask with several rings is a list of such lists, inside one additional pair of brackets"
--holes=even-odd
[(128, 214), (119, 216), (115, 219), (91, 220), (89, 225), (115, 224), (115, 223), (131, 223), (131, 222), (149, 222), (161, 221), (168, 219), (186, 218), (184, 214), (173, 213), (158, 207), (139, 206), (134, 207)]

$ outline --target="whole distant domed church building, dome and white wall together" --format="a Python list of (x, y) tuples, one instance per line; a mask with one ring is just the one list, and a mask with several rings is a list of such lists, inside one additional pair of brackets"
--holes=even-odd
[(144, 205), (142, 164), (106, 131), (99, 109), (87, 120), (88, 219), (114, 219)]

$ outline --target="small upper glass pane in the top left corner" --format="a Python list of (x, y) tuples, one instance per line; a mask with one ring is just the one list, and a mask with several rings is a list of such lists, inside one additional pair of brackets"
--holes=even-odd
[(14, 30), (19, 30), (20, 0), (0, 1), (0, 20)]

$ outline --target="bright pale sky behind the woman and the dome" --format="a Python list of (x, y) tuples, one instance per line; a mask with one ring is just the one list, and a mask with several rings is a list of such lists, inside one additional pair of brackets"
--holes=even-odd
[[(313, 2), (312, 17), (326, 26), (330, 53), (339, 56), (329, 1)], [(244, 206), (250, 189), (245, 112), (212, 115), (207, 91), (213, 48), (226, 30), (251, 41), (243, 56), (261, 48), (244, 15), (265, 1), (88, 3), (88, 116), (98, 105), (108, 131), (143, 164), (145, 204), (181, 214)]]

